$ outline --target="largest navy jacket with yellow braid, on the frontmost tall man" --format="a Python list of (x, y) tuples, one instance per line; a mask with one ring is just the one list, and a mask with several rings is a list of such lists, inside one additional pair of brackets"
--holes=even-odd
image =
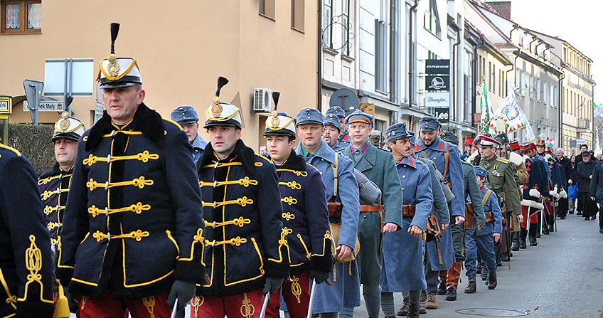
[(117, 300), (201, 282), (203, 215), (191, 144), (144, 104), (118, 127), (105, 114), (78, 143), (57, 277), (75, 295)]

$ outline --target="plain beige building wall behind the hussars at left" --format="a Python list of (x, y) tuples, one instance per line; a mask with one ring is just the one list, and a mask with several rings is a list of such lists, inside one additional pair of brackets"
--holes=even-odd
[[(260, 2), (43, 1), (40, 34), (0, 35), (0, 95), (24, 95), (24, 78), (44, 80), (46, 58), (94, 58), (95, 80), (98, 63), (110, 53), (110, 23), (119, 22), (115, 51), (137, 59), (146, 105), (168, 118), (178, 105), (193, 105), (203, 124), (218, 76), (224, 76), (230, 83), (221, 100), (240, 94), (243, 139), (257, 149), (264, 122), (251, 112), (254, 88), (281, 92), (279, 110), (291, 115), (316, 107), (318, 94), (316, 5), (276, 1), (267, 18), (260, 15)], [(292, 28), (292, 14), (299, 30)], [(94, 108), (95, 97), (73, 100), (75, 117), (87, 128)], [(39, 122), (58, 117), (40, 113)], [(19, 103), (9, 121), (31, 119)]]

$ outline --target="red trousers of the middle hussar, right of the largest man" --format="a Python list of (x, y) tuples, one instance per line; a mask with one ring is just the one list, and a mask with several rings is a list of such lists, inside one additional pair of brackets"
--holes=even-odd
[(263, 303), (262, 290), (228, 297), (194, 297), (191, 318), (258, 318)]

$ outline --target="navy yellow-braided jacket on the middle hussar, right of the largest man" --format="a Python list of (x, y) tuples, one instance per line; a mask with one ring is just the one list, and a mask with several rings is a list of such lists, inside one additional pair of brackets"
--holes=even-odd
[(257, 290), (266, 277), (289, 275), (277, 172), (242, 140), (224, 159), (211, 144), (197, 162), (206, 243), (203, 263), (210, 282), (197, 295), (226, 297)]

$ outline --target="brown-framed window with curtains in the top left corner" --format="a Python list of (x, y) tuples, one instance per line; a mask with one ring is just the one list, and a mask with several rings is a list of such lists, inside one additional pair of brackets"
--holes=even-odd
[(42, 3), (37, 1), (1, 1), (0, 33), (41, 33)]

